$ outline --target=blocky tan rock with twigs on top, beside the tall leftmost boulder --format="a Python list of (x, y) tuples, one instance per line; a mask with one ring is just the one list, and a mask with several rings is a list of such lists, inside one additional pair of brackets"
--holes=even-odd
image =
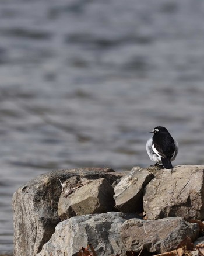
[[(85, 184), (85, 185), (83, 185)], [(104, 213), (114, 210), (114, 190), (104, 178), (83, 181), (79, 188), (66, 196), (66, 189), (61, 193), (58, 214), (61, 220), (89, 213)]]

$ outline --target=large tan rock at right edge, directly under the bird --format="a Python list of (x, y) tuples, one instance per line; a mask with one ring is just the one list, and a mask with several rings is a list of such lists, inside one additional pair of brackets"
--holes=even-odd
[(181, 165), (158, 171), (147, 184), (143, 206), (148, 219), (180, 216), (204, 219), (204, 166)]

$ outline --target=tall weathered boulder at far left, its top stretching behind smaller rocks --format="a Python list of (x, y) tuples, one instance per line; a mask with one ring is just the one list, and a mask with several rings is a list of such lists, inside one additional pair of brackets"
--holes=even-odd
[(27, 182), (13, 194), (14, 256), (32, 256), (41, 251), (60, 222), (59, 182), (76, 176), (89, 179), (105, 178), (112, 184), (122, 175), (110, 168), (79, 168), (50, 172)]

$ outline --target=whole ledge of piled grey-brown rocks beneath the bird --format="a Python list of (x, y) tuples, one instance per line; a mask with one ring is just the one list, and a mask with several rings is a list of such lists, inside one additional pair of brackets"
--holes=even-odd
[(187, 240), (198, 255), (192, 250), (204, 244), (204, 166), (54, 171), (19, 188), (13, 211), (14, 256), (77, 256), (89, 244), (97, 256), (146, 256)]

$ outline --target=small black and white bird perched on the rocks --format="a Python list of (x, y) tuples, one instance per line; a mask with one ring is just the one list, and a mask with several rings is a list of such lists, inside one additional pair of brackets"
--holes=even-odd
[(163, 165), (166, 169), (172, 169), (171, 161), (174, 161), (178, 154), (178, 142), (163, 126), (157, 126), (149, 133), (153, 133), (153, 137), (146, 143), (149, 158), (156, 162), (155, 165)]

